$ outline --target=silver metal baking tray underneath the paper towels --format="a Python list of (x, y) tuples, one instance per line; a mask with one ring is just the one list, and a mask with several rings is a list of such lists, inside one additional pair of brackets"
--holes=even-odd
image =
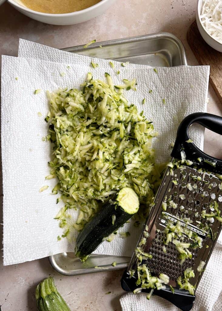
[[(183, 44), (174, 35), (166, 32), (94, 43), (87, 49), (80, 45), (63, 50), (90, 57), (120, 62), (129, 61), (154, 67), (187, 65)], [(111, 265), (114, 261), (116, 261), (115, 267)], [(85, 263), (82, 263), (74, 253), (60, 253), (49, 257), (52, 267), (67, 276), (122, 269), (128, 267), (129, 261), (130, 257), (91, 255)]]

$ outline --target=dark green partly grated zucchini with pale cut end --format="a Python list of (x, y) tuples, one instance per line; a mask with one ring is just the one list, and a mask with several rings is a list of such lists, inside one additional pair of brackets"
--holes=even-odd
[(76, 239), (75, 254), (82, 261), (88, 258), (102, 241), (124, 225), (139, 209), (139, 199), (133, 189), (122, 188), (113, 202), (107, 202)]

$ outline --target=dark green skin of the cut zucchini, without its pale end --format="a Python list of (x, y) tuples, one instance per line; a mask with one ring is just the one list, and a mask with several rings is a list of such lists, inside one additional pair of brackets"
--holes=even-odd
[[(112, 215), (116, 216), (114, 224), (112, 224)], [(104, 238), (119, 229), (133, 215), (126, 213), (116, 204), (105, 204), (79, 233), (76, 239), (76, 256), (84, 261), (102, 243)]]

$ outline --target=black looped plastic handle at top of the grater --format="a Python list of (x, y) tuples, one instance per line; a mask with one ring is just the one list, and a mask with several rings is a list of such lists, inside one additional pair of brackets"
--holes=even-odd
[(199, 167), (204, 166), (205, 169), (211, 172), (221, 174), (222, 160), (207, 155), (195, 146), (193, 142), (189, 142), (188, 129), (193, 123), (199, 123), (205, 128), (222, 135), (222, 117), (204, 112), (189, 114), (179, 125), (171, 156), (181, 159), (181, 150), (184, 150), (186, 159), (193, 161)]

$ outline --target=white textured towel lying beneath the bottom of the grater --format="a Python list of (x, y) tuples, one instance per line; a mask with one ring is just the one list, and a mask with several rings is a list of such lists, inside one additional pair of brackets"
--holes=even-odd
[[(196, 291), (193, 311), (222, 310), (222, 245), (217, 243)], [(120, 298), (122, 311), (179, 311), (177, 307), (157, 296), (129, 293)]]

